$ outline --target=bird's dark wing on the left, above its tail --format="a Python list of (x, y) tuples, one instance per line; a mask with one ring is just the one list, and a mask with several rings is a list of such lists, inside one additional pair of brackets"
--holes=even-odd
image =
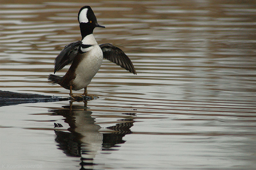
[(64, 47), (60, 54), (55, 58), (54, 73), (61, 70), (64, 66), (72, 63), (78, 53), (78, 49), (81, 44), (82, 41), (75, 41)]

